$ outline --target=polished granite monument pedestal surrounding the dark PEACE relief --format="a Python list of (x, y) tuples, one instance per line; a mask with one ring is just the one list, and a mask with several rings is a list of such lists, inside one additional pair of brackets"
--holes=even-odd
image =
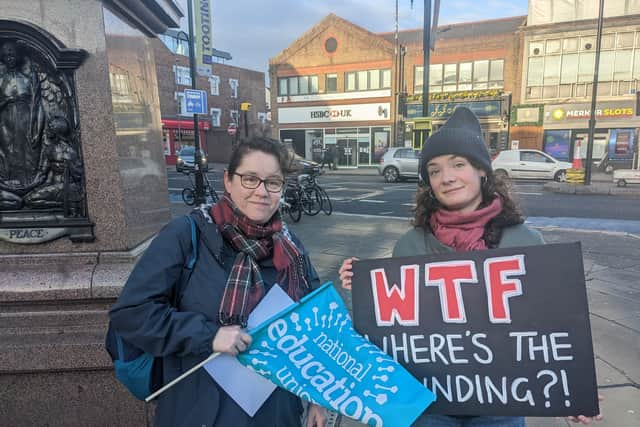
[[(144, 425), (104, 337), (108, 309), (170, 218), (150, 37), (182, 12), (170, 0), (0, 0), (0, 10), (0, 44), (22, 43), (29, 27), (86, 54), (72, 92), (90, 224), (81, 239), (0, 240), (0, 425)], [(18, 30), (3, 33), (7, 22)]]

